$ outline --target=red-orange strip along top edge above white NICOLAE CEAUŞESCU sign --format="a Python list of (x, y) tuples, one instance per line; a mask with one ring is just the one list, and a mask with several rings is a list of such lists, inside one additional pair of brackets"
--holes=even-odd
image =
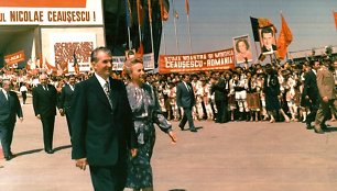
[(25, 7), (25, 8), (86, 8), (87, 0), (69, 1), (30, 1), (30, 0), (6, 0), (0, 1), (0, 7)]

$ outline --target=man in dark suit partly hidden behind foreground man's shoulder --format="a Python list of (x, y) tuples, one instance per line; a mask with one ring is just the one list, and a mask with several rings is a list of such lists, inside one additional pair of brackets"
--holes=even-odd
[(76, 78), (74, 75), (68, 77), (68, 82), (64, 85), (59, 96), (59, 103), (58, 110), (61, 115), (66, 115), (67, 124), (68, 124), (68, 132), (72, 137), (72, 123), (70, 120), (73, 119), (73, 111), (72, 111), (72, 100), (75, 90), (75, 82)]

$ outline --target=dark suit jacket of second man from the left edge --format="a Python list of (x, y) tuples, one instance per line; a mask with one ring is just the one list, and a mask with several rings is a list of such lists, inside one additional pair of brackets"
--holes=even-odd
[(41, 85), (33, 89), (33, 108), (35, 116), (55, 116), (57, 105), (57, 91), (52, 85), (47, 85), (48, 90), (44, 90)]

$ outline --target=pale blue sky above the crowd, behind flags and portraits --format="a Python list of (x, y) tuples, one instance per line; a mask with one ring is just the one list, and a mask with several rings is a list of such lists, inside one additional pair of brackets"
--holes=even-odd
[[(189, 54), (188, 25), (185, 0), (174, 0), (180, 19), (176, 20), (180, 54)], [(170, 0), (170, 19), (164, 24), (167, 55), (177, 54)], [(333, 10), (337, 0), (189, 0), (189, 23), (193, 53), (205, 53), (232, 47), (232, 37), (248, 34), (253, 43), (249, 16), (267, 18), (281, 27), (282, 11), (292, 33), (290, 52), (337, 45), (337, 30)], [(257, 43), (258, 48), (259, 44)], [(254, 47), (253, 47), (254, 52)]]

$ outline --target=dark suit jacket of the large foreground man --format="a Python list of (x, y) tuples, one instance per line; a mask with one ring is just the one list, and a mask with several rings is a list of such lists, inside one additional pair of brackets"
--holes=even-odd
[(126, 87), (109, 80), (112, 109), (96, 76), (77, 83), (73, 98), (72, 158), (87, 158), (93, 166), (113, 166), (127, 157), (127, 148), (137, 148)]

